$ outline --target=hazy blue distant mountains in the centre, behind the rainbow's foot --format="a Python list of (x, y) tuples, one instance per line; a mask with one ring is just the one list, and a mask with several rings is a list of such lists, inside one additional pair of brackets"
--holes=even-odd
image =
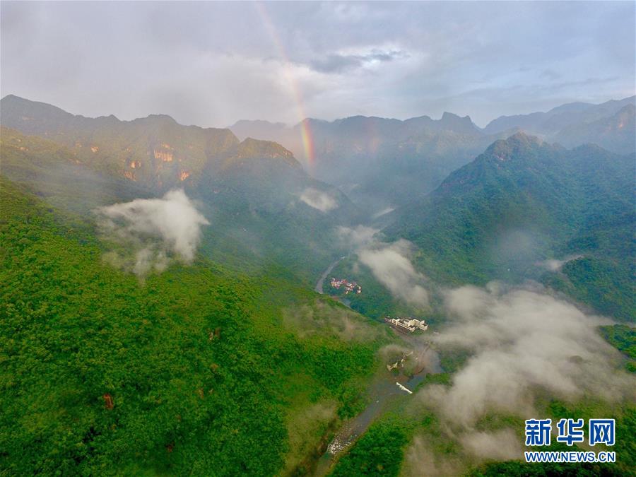
[(369, 215), (430, 192), (503, 136), (483, 134), (470, 117), (449, 112), (437, 120), (354, 116), (333, 122), (305, 119), (293, 127), (241, 121), (230, 129), (241, 137), (282, 143), (314, 177), (340, 187)]

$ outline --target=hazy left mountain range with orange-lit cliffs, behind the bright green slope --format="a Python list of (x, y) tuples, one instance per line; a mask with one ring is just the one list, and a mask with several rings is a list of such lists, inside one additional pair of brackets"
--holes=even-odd
[(183, 188), (216, 225), (204, 251), (228, 266), (272, 261), (311, 283), (342, 252), (334, 228), (360, 215), (278, 143), (239, 141), (229, 129), (183, 126), (165, 115), (86, 118), (16, 96), (0, 107), (8, 178), (83, 213)]

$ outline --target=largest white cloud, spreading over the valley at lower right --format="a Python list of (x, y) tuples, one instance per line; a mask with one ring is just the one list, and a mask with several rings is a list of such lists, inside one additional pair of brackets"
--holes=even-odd
[(476, 423), (488, 413), (537, 416), (542, 392), (566, 401), (633, 399), (636, 379), (616, 369), (618, 352), (596, 331), (609, 320), (584, 314), (538, 285), (447, 290), (444, 312), (452, 324), (432, 340), (442, 348), (465, 348), (471, 358), (451, 387), (426, 387), (419, 399), (437, 408), (471, 454), (519, 457), (519, 430), (483, 432)]

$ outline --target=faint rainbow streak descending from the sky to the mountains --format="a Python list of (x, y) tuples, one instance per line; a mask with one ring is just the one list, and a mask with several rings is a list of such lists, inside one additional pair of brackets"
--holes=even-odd
[(302, 93), (300, 90), (300, 86), (298, 81), (293, 74), (292, 69), (290, 68), (291, 61), (289, 59), (289, 55), (287, 54), (287, 50), (285, 49), (285, 45), (281, 40), (281, 37), (278, 35), (276, 31), (276, 27), (273, 25), (271, 17), (269, 13), (267, 13), (266, 6), (262, 1), (255, 1), (254, 6), (261, 16), (261, 20), (263, 20), (263, 24), (271, 37), (271, 40), (278, 50), (278, 54), (281, 55), (284, 64), (285, 64), (285, 78), (289, 84), (290, 91), (292, 93), (292, 98), (294, 100), (296, 111), (298, 112), (299, 118), (299, 126), (300, 126), (300, 139), (302, 141), (302, 150), (305, 153), (305, 158), (307, 158), (307, 164), (310, 167), (310, 170), (313, 169), (314, 163), (316, 160), (315, 150), (314, 150), (314, 136), (312, 134), (312, 129), (310, 127), (310, 122), (307, 120), (307, 114), (305, 114), (305, 106), (302, 101)]

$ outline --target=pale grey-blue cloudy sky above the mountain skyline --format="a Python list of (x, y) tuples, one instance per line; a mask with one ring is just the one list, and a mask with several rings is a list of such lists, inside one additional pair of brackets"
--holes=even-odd
[(636, 2), (0, 2), (0, 93), (182, 124), (502, 114), (635, 94)]

